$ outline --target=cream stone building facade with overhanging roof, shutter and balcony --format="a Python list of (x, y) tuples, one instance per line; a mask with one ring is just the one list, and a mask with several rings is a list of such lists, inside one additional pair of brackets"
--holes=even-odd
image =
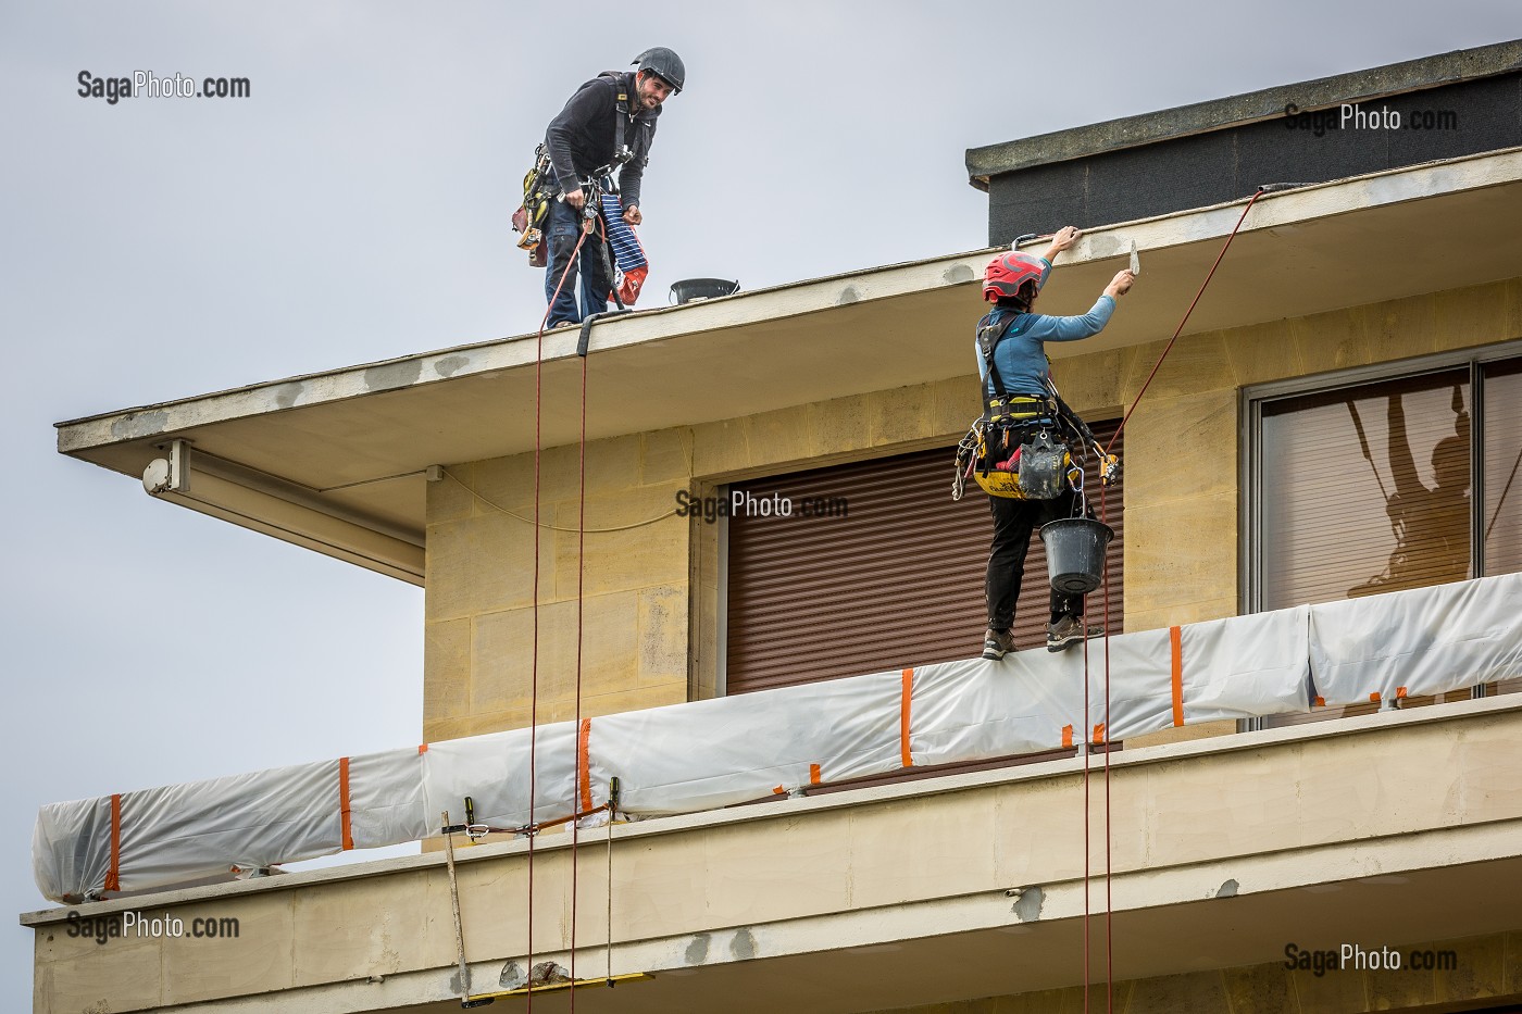
[[(1522, 569), (1522, 44), (968, 169), (995, 245), (1113, 222), (1046, 312), (1142, 260), (1100, 336), (1050, 349), (1096, 429), (1134, 407), (1113, 632)], [(540, 399), (524, 336), (62, 423), (59, 449), (135, 478), (190, 442), (164, 499), (422, 583), (425, 743), (971, 658), (986, 509), (951, 501), (951, 448), (991, 253), (598, 323), (586, 359), (551, 332)], [(1076, 1011), (1085, 962), (1132, 1014), (1522, 1009), (1513, 682), (1192, 725), (1102, 781), (1070, 751), (542, 834), (533, 860), (492, 836), (460, 860), (469, 982), (432, 850), (82, 906), (231, 914), (233, 941), (97, 947), (30, 914), (35, 1009), (454, 1009), (530, 950), (571, 968), (572, 926), (578, 979), (635, 976), (578, 990), (597, 1011)], [(1344, 942), (1362, 967), (1327, 965)]]

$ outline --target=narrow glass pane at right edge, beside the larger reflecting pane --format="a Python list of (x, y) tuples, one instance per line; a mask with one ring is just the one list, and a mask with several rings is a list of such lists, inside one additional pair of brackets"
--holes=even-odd
[(1522, 571), (1522, 359), (1485, 367), (1485, 574)]

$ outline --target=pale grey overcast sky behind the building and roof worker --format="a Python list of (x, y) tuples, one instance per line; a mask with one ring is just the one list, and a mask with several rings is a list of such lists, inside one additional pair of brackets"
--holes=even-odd
[[(533, 330), (508, 213), (597, 72), (686, 61), (644, 186), (664, 305), (982, 247), (970, 146), (1514, 37), (1514, 0), (5, 0), (0, 909), (46, 907), (44, 802), (419, 740), (420, 589), (154, 501), (52, 423)], [(81, 70), (253, 94), (110, 105)], [(32, 933), (0, 939), (0, 1009), (26, 1009)]]

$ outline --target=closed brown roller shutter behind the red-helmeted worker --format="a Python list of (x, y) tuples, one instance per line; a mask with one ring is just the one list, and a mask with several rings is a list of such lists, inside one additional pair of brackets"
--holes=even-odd
[[(1100, 442), (1117, 422), (1094, 426)], [(951, 448), (919, 451), (731, 487), (756, 504), (784, 498), (793, 515), (729, 519), (726, 693), (982, 652), (992, 524), (976, 484), (960, 502), (951, 499)], [(1122, 629), (1122, 499), (1117, 484), (1108, 495), (1116, 540), (1106, 560), (1114, 633)], [(1046, 554), (1033, 537), (1015, 618), (1020, 647), (1044, 644), (1047, 595)], [(1094, 592), (1091, 618), (1102, 609)]]

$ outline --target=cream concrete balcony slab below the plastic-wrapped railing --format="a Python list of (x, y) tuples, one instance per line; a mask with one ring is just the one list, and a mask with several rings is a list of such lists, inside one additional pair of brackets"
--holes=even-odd
[[(578, 974), (609, 961), (613, 974), (658, 973), (618, 990), (626, 1014), (849, 1011), (1070, 987), (1085, 897), (1096, 910), (1105, 897), (1102, 880), (1085, 894), (1081, 766), (650, 821), (615, 828), (610, 856), (606, 831), (583, 831), (574, 903), (569, 840), (546, 837), (534, 958), (569, 962), (574, 909)], [(1259, 964), (1312, 930), (1390, 944), (1501, 932), (1522, 909), (1519, 696), (1128, 751), (1111, 758), (1110, 784), (1116, 831), (1106, 853), (1096, 784), (1088, 872), (1113, 859), (1128, 941), (1117, 976)], [(527, 958), (525, 851), (507, 842), (460, 857), (478, 993)], [(67, 909), (29, 914), (37, 1009), (449, 1002), (458, 971), (443, 874), (435, 853), (79, 909), (231, 917), (236, 939), (97, 945), (70, 936)], [(912, 974), (953, 964), (954, 984)], [(829, 991), (794, 994), (822, 977)]]

